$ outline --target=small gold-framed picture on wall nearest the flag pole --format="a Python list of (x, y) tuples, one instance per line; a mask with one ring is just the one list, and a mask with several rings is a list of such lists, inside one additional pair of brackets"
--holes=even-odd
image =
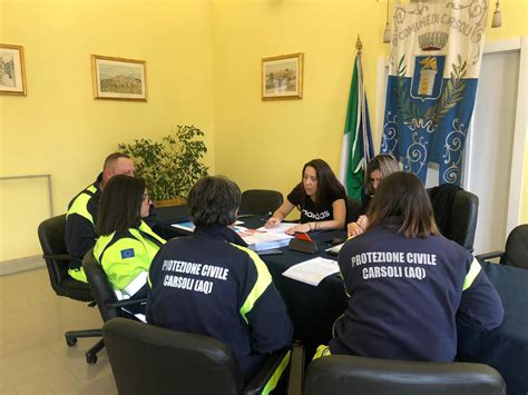
[(262, 59), (262, 100), (303, 98), (303, 53)]

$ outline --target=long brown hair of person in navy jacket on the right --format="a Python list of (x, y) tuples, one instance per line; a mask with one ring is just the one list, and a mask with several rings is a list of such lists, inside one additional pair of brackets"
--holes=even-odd
[(369, 206), (369, 227), (393, 225), (408, 238), (440, 235), (420, 178), (397, 171), (384, 177)]

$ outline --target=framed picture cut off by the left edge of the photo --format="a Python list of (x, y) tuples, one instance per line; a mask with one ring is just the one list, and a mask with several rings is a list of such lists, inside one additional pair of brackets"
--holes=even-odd
[(0, 43), (0, 93), (26, 95), (23, 47)]

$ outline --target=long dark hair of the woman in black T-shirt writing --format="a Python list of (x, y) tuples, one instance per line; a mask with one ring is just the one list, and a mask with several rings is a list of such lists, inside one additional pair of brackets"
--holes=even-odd
[(344, 190), (343, 185), (335, 177), (329, 164), (323, 159), (312, 159), (304, 164), (303, 172), (301, 174), (301, 182), (297, 185), (297, 188), (301, 190), (300, 207), (304, 207), (306, 199), (309, 199), (302, 181), (306, 167), (313, 167), (317, 174), (317, 191), (315, 194), (316, 203), (327, 201), (331, 196), (342, 196), (343, 199), (346, 199), (346, 191)]

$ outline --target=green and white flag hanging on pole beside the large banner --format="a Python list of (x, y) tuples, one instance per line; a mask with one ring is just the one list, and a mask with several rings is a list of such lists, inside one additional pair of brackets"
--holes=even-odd
[(374, 156), (370, 130), (369, 106), (361, 66), (361, 41), (358, 42), (358, 55), (354, 72), (350, 85), (349, 107), (344, 125), (343, 145), (341, 149), (340, 180), (346, 195), (361, 201), (363, 199), (364, 170)]

